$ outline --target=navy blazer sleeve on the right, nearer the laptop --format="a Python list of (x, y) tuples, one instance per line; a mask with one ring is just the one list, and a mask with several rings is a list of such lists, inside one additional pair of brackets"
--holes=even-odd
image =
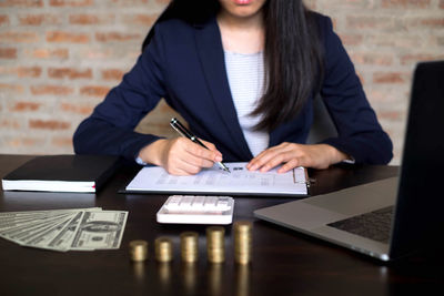
[(322, 18), (321, 32), (325, 52), (321, 96), (339, 134), (323, 143), (353, 156), (356, 163), (389, 163), (393, 157), (392, 141), (377, 122), (330, 18)]

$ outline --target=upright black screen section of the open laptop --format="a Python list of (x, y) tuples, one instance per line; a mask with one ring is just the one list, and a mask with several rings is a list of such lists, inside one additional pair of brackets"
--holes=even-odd
[(442, 236), (443, 188), (444, 61), (424, 62), (414, 72), (391, 256)]

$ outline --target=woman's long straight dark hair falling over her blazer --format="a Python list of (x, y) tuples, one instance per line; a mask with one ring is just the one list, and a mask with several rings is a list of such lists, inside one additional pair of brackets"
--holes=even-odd
[[(196, 24), (219, 9), (218, 0), (173, 0), (157, 22), (178, 18)], [(270, 132), (293, 119), (319, 92), (324, 63), (316, 20), (302, 0), (268, 0), (263, 17), (265, 89), (252, 114), (262, 116), (255, 129)], [(153, 34), (151, 29), (142, 50)]]

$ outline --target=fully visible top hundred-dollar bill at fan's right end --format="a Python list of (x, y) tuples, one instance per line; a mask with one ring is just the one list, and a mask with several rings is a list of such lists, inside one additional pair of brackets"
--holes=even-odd
[(71, 249), (115, 249), (120, 247), (128, 212), (84, 212)]

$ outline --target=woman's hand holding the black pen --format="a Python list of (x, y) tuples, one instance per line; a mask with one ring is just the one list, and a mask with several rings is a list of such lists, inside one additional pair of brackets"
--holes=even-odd
[(202, 167), (211, 167), (222, 161), (214, 144), (200, 140), (208, 149), (186, 137), (161, 139), (139, 152), (145, 163), (160, 165), (172, 175), (194, 175)]

